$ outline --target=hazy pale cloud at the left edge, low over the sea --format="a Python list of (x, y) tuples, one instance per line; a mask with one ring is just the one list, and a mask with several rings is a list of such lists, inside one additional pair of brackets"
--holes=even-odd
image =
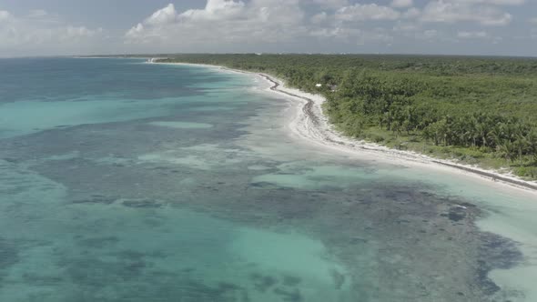
[(35, 49), (41, 51), (38, 55), (80, 52), (102, 33), (102, 28), (66, 24), (44, 10), (23, 16), (0, 11), (0, 55), (35, 55)]

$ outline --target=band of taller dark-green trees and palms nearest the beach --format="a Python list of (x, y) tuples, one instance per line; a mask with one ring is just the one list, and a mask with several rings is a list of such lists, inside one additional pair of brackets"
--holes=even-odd
[(332, 122), (350, 136), (360, 137), (364, 129), (375, 125), (396, 136), (420, 136), (435, 146), (479, 148), (509, 161), (532, 156), (537, 162), (534, 122), (481, 110), (451, 115), (412, 97), (427, 89), (408, 78), (382, 81), (378, 76), (350, 73), (339, 90), (328, 95), (327, 110)]

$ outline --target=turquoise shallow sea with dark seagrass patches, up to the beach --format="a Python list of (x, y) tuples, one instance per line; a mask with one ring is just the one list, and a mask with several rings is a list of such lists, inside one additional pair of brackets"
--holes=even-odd
[(535, 300), (530, 195), (309, 146), (250, 76), (0, 70), (0, 301)]

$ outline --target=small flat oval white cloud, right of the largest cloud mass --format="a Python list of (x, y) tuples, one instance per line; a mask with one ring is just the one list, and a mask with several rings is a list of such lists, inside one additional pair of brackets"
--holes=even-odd
[(396, 20), (400, 13), (388, 6), (358, 4), (341, 7), (335, 17), (340, 21)]

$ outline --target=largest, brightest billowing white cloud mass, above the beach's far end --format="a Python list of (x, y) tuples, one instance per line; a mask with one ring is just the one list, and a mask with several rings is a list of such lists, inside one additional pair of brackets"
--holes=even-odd
[[(168, 51), (286, 41), (307, 35), (298, 0), (208, 0), (203, 9), (177, 13), (173, 5), (158, 10), (128, 30), (126, 43), (160, 45)], [(215, 47), (218, 45), (218, 47)]]

